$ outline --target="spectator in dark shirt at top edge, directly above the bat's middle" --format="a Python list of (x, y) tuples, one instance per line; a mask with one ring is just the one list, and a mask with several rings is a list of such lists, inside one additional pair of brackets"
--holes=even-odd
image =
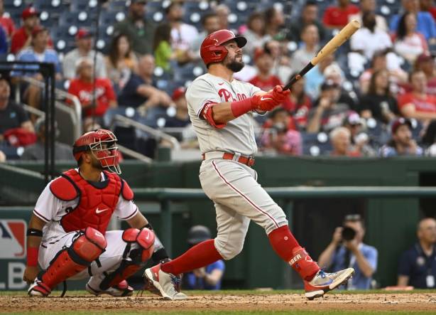
[(300, 35), (303, 31), (303, 28), (308, 24), (314, 24), (317, 27), (320, 41), (326, 41), (328, 39), (327, 30), (318, 19), (317, 3), (312, 0), (306, 1), (301, 11), (301, 15), (298, 18), (294, 18), (290, 22), (287, 39), (297, 43), (302, 41)]

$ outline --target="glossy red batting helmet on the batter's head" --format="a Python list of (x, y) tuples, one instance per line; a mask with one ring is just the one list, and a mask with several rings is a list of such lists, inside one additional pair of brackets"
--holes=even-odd
[(235, 36), (232, 31), (228, 30), (219, 30), (207, 36), (200, 48), (200, 55), (205, 65), (224, 60), (228, 51), (223, 44), (231, 40), (236, 41), (239, 48), (244, 47), (247, 43), (245, 37)]

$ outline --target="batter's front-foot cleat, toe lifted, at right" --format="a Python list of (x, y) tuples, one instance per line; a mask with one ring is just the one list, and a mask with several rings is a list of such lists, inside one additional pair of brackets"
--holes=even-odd
[(347, 268), (332, 273), (320, 270), (315, 274), (315, 277), (313, 277), (312, 280), (305, 281), (305, 297), (310, 300), (322, 297), (330, 290), (336, 289), (341, 284), (346, 283), (353, 274), (353, 268)]

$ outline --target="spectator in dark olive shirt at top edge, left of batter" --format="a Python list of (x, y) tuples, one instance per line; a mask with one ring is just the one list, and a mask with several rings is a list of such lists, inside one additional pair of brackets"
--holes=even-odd
[(131, 0), (129, 16), (114, 26), (114, 34), (126, 34), (133, 51), (140, 55), (153, 53), (155, 26), (145, 18), (146, 4), (146, 0)]

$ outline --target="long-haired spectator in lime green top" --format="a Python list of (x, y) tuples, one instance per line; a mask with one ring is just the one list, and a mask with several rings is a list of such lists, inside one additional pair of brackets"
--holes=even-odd
[(175, 53), (173, 53), (173, 48), (171, 48), (170, 24), (162, 23), (156, 28), (153, 52), (156, 65), (165, 71), (169, 71), (171, 68), (170, 61), (175, 58)]

